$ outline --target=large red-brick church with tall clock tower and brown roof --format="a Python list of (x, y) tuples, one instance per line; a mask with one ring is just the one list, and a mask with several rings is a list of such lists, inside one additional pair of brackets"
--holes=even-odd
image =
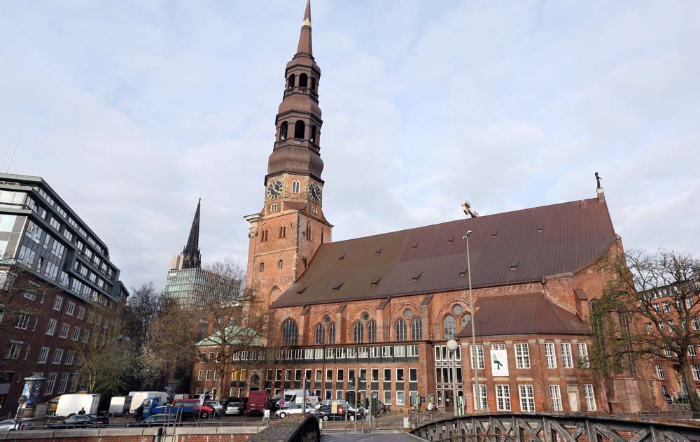
[[(652, 381), (603, 379), (589, 368), (587, 319), (607, 283), (596, 262), (622, 252), (602, 188), (592, 198), (333, 242), (309, 3), (285, 78), (264, 207), (245, 217), (246, 283), (274, 317), (268, 344), (285, 350), (265, 369), (236, 361), (222, 396), (280, 394), (305, 377), (323, 399), (374, 394), (398, 410), (432, 401), (449, 411), (456, 390), (469, 413), (478, 380), (478, 408), (493, 412), (662, 405)], [(193, 377), (192, 393), (211, 391)]]

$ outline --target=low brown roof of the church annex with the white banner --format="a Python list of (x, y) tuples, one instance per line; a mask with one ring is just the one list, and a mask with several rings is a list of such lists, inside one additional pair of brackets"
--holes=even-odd
[[(585, 334), (587, 325), (540, 293), (482, 297), (476, 302), (476, 336)], [(457, 336), (472, 336), (470, 323)]]

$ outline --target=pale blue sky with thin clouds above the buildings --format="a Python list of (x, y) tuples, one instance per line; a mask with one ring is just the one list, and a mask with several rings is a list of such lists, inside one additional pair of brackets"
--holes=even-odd
[[(245, 264), (306, 0), (7, 2), (0, 162), (127, 287)], [(312, 0), (335, 241), (596, 196), (626, 248), (700, 255), (700, 2)]]

